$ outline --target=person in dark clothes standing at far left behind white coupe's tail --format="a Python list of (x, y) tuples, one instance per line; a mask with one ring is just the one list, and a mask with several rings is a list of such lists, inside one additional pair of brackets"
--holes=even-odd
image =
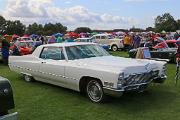
[(8, 64), (10, 44), (6, 39), (2, 40), (2, 59), (5, 65)]

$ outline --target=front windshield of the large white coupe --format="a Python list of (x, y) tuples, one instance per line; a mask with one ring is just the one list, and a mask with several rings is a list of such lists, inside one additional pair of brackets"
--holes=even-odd
[(65, 47), (65, 49), (69, 60), (110, 55), (99, 45), (77, 45)]

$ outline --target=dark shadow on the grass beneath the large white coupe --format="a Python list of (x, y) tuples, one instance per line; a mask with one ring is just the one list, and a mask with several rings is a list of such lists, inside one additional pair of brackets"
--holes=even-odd
[[(85, 95), (80, 94), (79, 92), (62, 88), (59, 86), (43, 83), (43, 82), (33, 82), (34, 86), (39, 86), (43, 88), (47, 88), (51, 90), (51, 92), (57, 92), (59, 94), (63, 93), (66, 95), (67, 101), (71, 101), (68, 99), (73, 99), (73, 97), (77, 98), (80, 102), (83, 102), (88, 105), (96, 106), (99, 105), (101, 107), (104, 106), (105, 109), (113, 108), (116, 110), (125, 110), (127, 112), (143, 112), (149, 110), (155, 110), (158, 108), (168, 108), (170, 103), (173, 104), (173, 101), (176, 100), (177, 94), (171, 90), (164, 89), (163, 87), (154, 88), (151, 86), (146, 91), (142, 93), (137, 92), (128, 92), (125, 93), (120, 98), (108, 97), (108, 101), (103, 104), (95, 104), (92, 103)], [(166, 108), (165, 108), (166, 109)]]

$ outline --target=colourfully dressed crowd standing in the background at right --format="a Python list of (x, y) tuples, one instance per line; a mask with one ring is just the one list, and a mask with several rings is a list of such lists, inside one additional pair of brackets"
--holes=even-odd
[(148, 32), (148, 33), (125, 33), (124, 35), (124, 47), (125, 50), (138, 48), (138, 47), (150, 47), (155, 46), (161, 40), (178, 40), (180, 37), (179, 32), (166, 33), (162, 31), (161, 33)]

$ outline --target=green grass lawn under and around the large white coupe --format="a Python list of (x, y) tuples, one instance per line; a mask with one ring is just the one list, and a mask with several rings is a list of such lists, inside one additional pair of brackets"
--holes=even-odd
[[(111, 52), (125, 56), (125, 52)], [(174, 84), (175, 64), (167, 65), (168, 79), (143, 93), (110, 98), (105, 104), (90, 102), (80, 93), (41, 82), (25, 82), (21, 75), (0, 64), (0, 75), (11, 81), (18, 120), (178, 120), (180, 82)]]

